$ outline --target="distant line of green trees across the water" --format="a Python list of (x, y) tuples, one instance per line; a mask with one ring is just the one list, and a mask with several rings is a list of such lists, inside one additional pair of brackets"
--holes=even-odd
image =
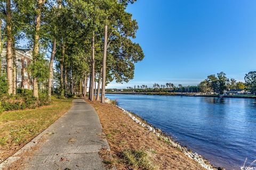
[[(246, 89), (252, 94), (256, 92), (256, 71), (245, 74), (245, 82), (237, 81), (234, 78), (228, 79), (224, 72), (211, 74), (197, 86), (182, 86), (173, 83), (158, 84), (152, 87), (147, 85), (127, 87), (122, 89), (124, 92), (202, 92), (204, 94), (224, 94), (225, 90)], [(107, 89), (107, 91), (117, 91), (118, 89)]]

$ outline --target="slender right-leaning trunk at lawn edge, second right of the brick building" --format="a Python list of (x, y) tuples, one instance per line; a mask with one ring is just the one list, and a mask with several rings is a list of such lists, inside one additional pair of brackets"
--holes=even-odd
[(53, 40), (52, 43), (52, 54), (51, 54), (51, 60), (50, 60), (50, 65), (49, 65), (49, 80), (48, 80), (48, 96), (49, 100), (51, 100), (52, 96), (52, 77), (53, 77), (53, 61), (54, 61), (54, 56), (56, 53), (56, 39)]

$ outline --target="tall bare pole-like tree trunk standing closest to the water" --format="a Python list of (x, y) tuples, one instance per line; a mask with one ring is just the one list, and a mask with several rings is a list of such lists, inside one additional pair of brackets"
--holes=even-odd
[(101, 87), (101, 103), (105, 103), (105, 86), (106, 86), (106, 60), (107, 60), (107, 38), (108, 26), (105, 25), (104, 50), (102, 60), (102, 87)]

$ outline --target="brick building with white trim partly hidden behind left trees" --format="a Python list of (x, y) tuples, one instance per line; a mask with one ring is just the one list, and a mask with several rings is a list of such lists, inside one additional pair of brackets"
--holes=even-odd
[[(17, 88), (32, 89), (33, 81), (28, 73), (28, 65), (32, 61), (32, 54), (30, 49), (15, 49), (15, 58), (17, 64), (16, 82)], [(1, 54), (1, 73), (6, 72), (6, 49), (3, 49)]]

